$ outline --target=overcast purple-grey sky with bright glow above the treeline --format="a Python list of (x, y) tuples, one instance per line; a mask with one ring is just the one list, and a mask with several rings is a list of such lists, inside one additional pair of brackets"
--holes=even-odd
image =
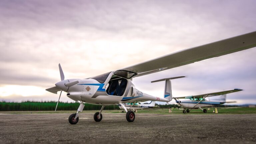
[[(0, 100), (58, 100), (45, 91), (182, 49), (256, 30), (256, 1), (0, 1)], [(255, 38), (256, 39), (256, 38)], [(256, 103), (256, 48), (134, 78), (142, 92), (163, 97), (225, 89), (238, 104)], [(62, 94), (61, 101), (72, 101)]]

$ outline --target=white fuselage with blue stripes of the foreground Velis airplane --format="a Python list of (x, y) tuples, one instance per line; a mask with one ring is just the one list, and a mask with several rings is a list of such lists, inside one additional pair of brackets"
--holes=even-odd
[[(105, 81), (97, 78), (67, 79), (56, 83), (56, 86), (67, 92), (67, 96), (72, 100), (90, 104), (113, 105), (143, 100), (168, 101), (142, 93), (135, 88), (131, 79), (117, 77), (113, 73), (108, 73)], [(73, 81), (79, 81), (79, 83), (71, 87), (65, 86), (65, 83)]]

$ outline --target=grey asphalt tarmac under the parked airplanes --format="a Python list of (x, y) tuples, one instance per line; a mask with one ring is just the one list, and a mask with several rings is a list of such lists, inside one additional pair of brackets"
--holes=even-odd
[(80, 113), (71, 125), (70, 114), (0, 114), (0, 143), (256, 143), (256, 114)]

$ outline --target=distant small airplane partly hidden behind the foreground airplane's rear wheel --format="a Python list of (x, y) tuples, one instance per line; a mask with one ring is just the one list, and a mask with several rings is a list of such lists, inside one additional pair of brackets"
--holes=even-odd
[[(124, 106), (126, 107), (127, 110), (136, 110), (136, 109), (147, 109), (147, 108), (153, 108), (153, 107), (157, 107), (155, 106), (156, 101), (151, 101), (149, 104), (139, 104), (137, 102), (131, 102), (131, 103), (125, 103)], [(119, 105), (119, 108), (121, 110), (124, 110), (124, 108)], [(122, 111), (124, 112), (124, 111)]]

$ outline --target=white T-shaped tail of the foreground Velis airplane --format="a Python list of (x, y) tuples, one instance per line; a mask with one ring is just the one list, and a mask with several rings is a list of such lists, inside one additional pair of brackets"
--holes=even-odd
[(160, 79), (160, 80), (155, 80), (153, 82), (159, 82), (159, 81), (165, 81), (165, 89), (164, 89), (164, 98), (171, 101), (172, 100), (172, 85), (171, 85), (171, 80), (172, 79), (177, 79), (177, 78), (183, 78), (185, 76), (179, 76), (179, 77), (171, 77), (171, 78), (165, 78), (165, 79)]

